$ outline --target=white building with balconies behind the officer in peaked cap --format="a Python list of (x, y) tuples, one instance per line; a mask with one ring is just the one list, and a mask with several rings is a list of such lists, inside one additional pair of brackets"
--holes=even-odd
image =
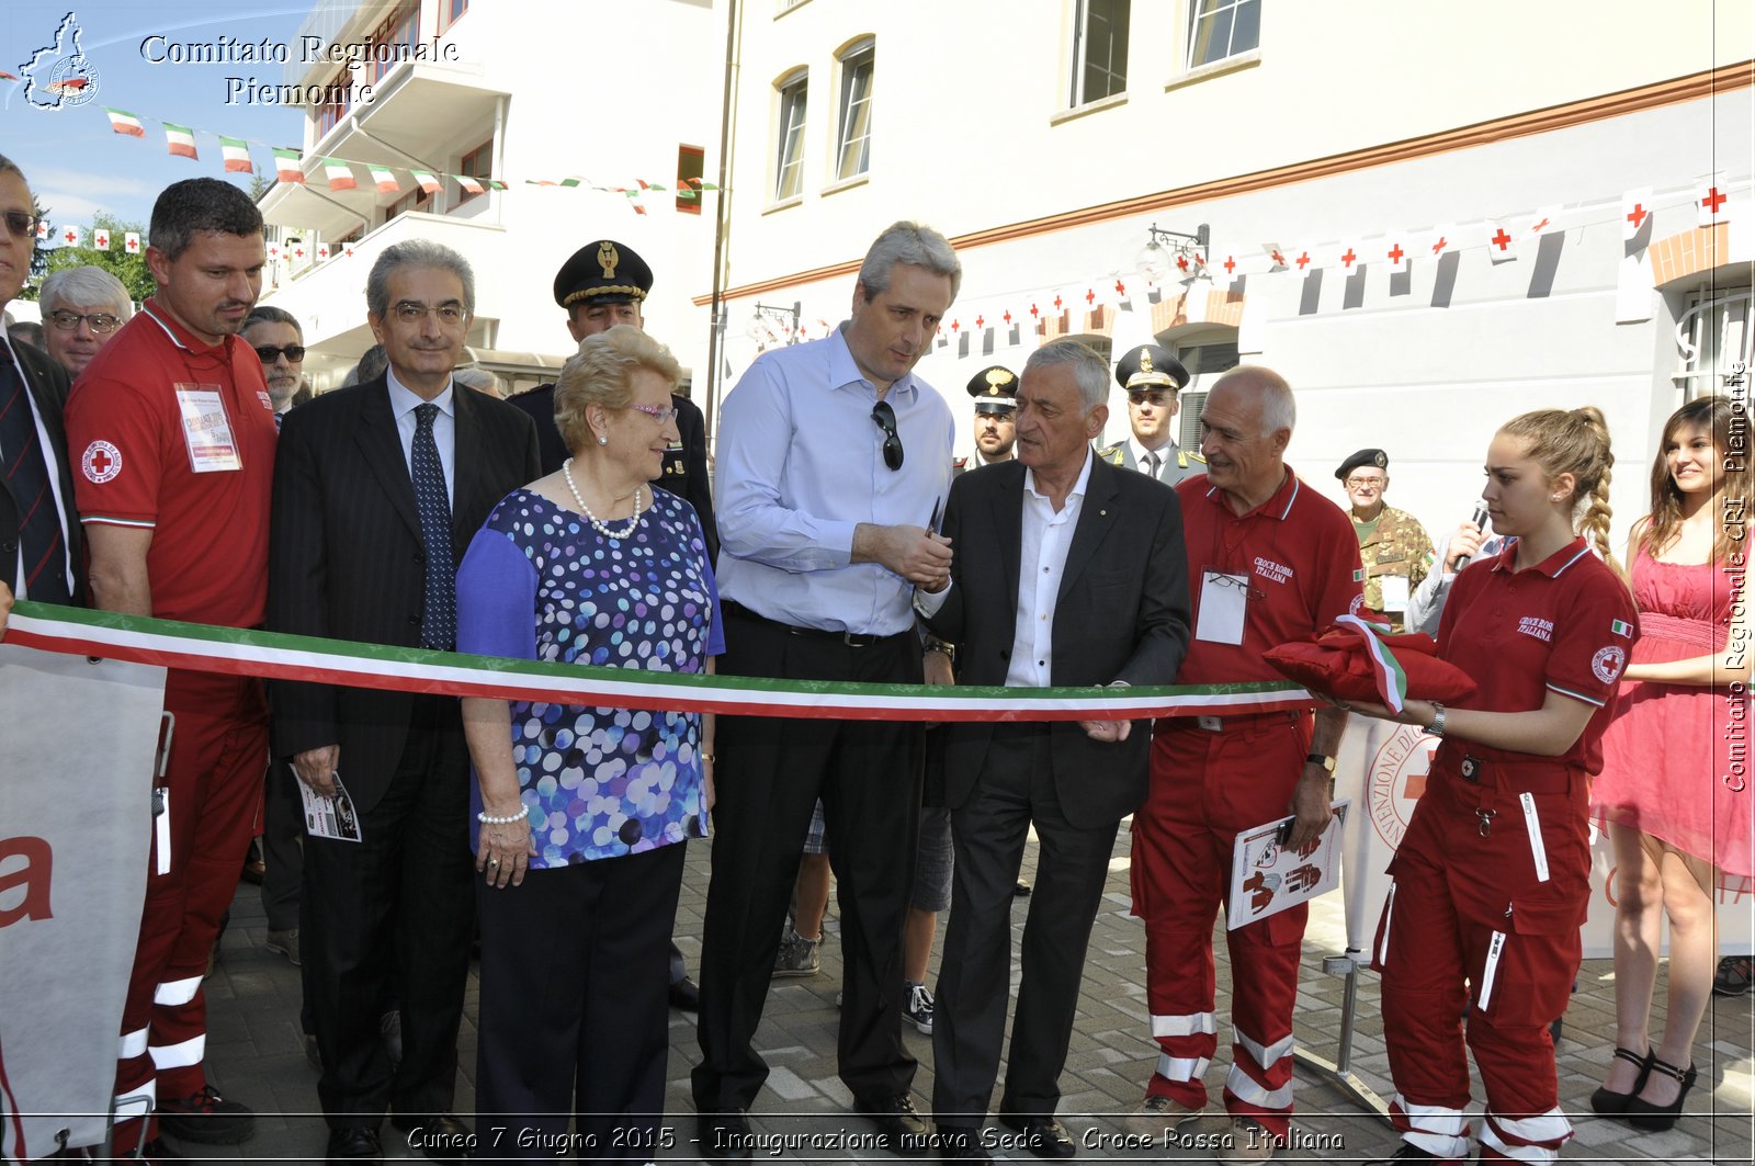
[[(304, 321), (318, 388), (374, 342), (372, 260), (416, 237), (470, 260), (470, 351), (514, 390), (553, 379), (574, 349), (555, 272), (605, 237), (655, 272), (648, 330), (686, 371), (704, 362), (709, 314), (690, 295), (711, 284), (716, 204), (686, 179), (718, 176), (723, 28), (709, 0), (325, 0), (300, 35), (400, 46), (388, 61), (288, 67), (288, 84), (372, 91), (312, 107), (305, 183), (261, 198), (281, 251), (263, 302)], [(356, 188), (330, 190), (330, 158)], [(372, 165), (398, 190), (381, 191)], [(439, 190), (426, 193), (416, 172)]]

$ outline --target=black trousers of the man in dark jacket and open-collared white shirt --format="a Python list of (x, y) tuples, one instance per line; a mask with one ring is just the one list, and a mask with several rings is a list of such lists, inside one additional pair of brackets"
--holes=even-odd
[(1049, 727), (999, 725), (974, 790), (951, 811), (956, 866), (932, 1015), (932, 1110), (944, 1126), (979, 1126), (999, 1075), (1013, 890), (1030, 824), (1041, 855), (1023, 924), (1023, 980), (999, 1108), (1051, 1115), (1060, 1103), (1085, 952), (1120, 822), (1071, 825), (1055, 794)]

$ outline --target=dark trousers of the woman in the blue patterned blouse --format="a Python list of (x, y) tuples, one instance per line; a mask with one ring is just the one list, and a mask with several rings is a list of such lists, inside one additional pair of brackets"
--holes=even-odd
[[(667, 939), (686, 843), (476, 882), (481, 1157), (663, 1157)], [(577, 1122), (567, 1138), (569, 1117)]]

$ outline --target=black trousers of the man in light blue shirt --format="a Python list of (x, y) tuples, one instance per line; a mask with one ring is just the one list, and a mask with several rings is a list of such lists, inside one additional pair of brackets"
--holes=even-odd
[[(921, 680), (911, 632), (853, 648), (732, 608), (725, 646), (721, 674)], [(841, 904), (841, 1080), (855, 1099), (906, 1094), (914, 1057), (902, 1045), (902, 924), (920, 831), (920, 725), (721, 716), (716, 746), (697, 1110), (748, 1110), (767, 1080), (755, 1034), (818, 795)]]

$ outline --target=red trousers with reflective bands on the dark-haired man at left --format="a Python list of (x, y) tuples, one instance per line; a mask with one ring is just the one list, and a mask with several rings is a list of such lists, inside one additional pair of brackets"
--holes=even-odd
[[(163, 822), (154, 822), (140, 939), (121, 1013), (116, 1148), (142, 1136), (140, 1098), (188, 1098), (207, 1083), (202, 976), (219, 917), (237, 892), (261, 808), (269, 708), (261, 681), (172, 671), (165, 711), (176, 718), (165, 766), (170, 869), (160, 874)], [(130, 1101), (132, 1099), (132, 1101)], [(158, 1136), (151, 1120), (146, 1138)]]

